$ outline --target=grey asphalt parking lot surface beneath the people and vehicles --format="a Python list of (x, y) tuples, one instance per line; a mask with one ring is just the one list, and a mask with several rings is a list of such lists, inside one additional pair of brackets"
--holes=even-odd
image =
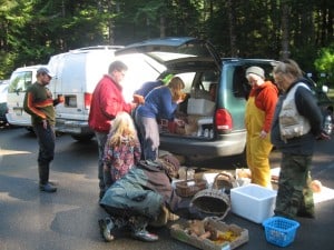
[[(272, 153), (272, 167), (279, 166), (279, 152)], [(38, 190), (36, 158), (33, 134), (24, 129), (0, 129), (0, 250), (195, 249), (173, 239), (168, 227), (153, 229), (160, 238), (154, 243), (132, 240), (126, 230), (120, 230), (114, 242), (104, 242), (97, 223), (106, 213), (97, 202), (95, 140), (79, 143), (69, 136), (57, 138), (51, 168), (51, 179), (58, 182), (57, 193)], [(218, 159), (204, 164), (216, 168), (233, 163)], [(312, 176), (334, 189), (334, 139), (317, 142)], [(285, 249), (333, 249), (334, 199), (330, 194), (316, 203), (316, 219), (297, 219), (301, 227), (294, 242)], [(248, 230), (249, 241), (239, 250), (281, 249), (266, 241), (259, 223), (232, 212), (224, 221)]]

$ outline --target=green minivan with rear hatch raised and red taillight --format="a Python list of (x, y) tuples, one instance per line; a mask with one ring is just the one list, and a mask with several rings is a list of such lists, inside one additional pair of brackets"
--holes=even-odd
[[(171, 73), (184, 80), (187, 99), (176, 116), (184, 119), (185, 127), (170, 129), (168, 122), (160, 121), (160, 149), (193, 159), (244, 153), (245, 104), (250, 90), (245, 71), (258, 66), (265, 70), (266, 79), (273, 80), (273, 68), (278, 63), (269, 59), (220, 58), (208, 41), (190, 37), (146, 40), (115, 53), (145, 54), (165, 66), (160, 79)], [(333, 103), (328, 104), (333, 108)]]

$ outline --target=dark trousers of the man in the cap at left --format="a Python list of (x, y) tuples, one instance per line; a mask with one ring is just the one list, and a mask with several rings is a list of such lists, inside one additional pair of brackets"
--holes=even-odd
[(38, 172), (39, 172), (39, 183), (46, 184), (49, 181), (50, 162), (55, 157), (55, 142), (56, 134), (53, 126), (48, 123), (48, 128), (45, 129), (42, 123), (33, 126), (33, 131), (36, 133), (39, 152), (38, 152)]

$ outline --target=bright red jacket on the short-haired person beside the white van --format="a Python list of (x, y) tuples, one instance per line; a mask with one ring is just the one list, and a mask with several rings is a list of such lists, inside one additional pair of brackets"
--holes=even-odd
[(105, 74), (96, 86), (90, 103), (88, 118), (89, 127), (98, 132), (108, 133), (110, 122), (120, 111), (130, 112), (131, 104), (127, 103), (121, 93), (121, 86)]

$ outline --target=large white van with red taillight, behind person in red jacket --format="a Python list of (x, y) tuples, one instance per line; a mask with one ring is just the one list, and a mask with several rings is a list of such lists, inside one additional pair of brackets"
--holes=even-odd
[[(57, 132), (69, 133), (79, 141), (94, 137), (94, 132), (88, 126), (91, 96), (96, 84), (104, 74), (108, 73), (109, 64), (116, 60), (114, 52), (119, 48), (121, 47), (88, 47), (50, 58), (48, 68), (55, 77), (49, 89), (55, 97), (63, 94), (65, 98), (63, 103), (56, 106)], [(136, 60), (136, 57), (118, 59), (129, 67), (125, 77), (128, 87), (124, 90), (127, 100), (144, 81), (154, 80), (159, 76), (148, 61), (144, 63), (143, 58), (140, 60)], [(138, 67), (138, 63), (145, 66)]]

